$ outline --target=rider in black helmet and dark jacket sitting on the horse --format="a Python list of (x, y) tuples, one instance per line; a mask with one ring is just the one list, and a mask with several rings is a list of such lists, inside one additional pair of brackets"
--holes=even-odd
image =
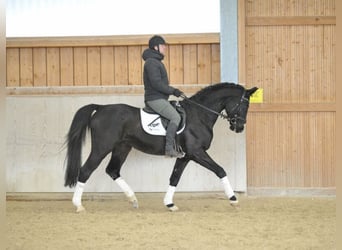
[(165, 56), (166, 42), (161, 36), (150, 38), (147, 48), (142, 58), (144, 64), (144, 89), (145, 104), (161, 116), (170, 120), (166, 129), (165, 155), (181, 158), (183, 152), (176, 149), (175, 137), (181, 117), (176, 109), (169, 103), (170, 95), (180, 97), (183, 92), (170, 86), (168, 75), (162, 60)]

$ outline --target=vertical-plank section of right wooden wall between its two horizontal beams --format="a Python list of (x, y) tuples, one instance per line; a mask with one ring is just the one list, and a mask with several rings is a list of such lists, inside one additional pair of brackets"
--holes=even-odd
[(334, 29), (247, 28), (247, 82), (264, 88), (265, 103), (334, 102)]

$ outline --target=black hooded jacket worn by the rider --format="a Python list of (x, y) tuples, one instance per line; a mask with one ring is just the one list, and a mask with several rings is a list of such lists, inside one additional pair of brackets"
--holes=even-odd
[(162, 63), (164, 55), (153, 49), (146, 49), (142, 58), (144, 64), (145, 102), (157, 99), (167, 100), (175, 91), (169, 84), (167, 71)]

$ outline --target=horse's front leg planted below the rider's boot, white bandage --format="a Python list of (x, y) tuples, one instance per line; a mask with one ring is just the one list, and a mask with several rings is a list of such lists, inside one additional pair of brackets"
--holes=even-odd
[(177, 159), (175, 166), (173, 167), (172, 174), (170, 176), (170, 185), (164, 196), (164, 205), (172, 212), (178, 210), (178, 207), (173, 203), (173, 196), (175, 194), (178, 182), (188, 162), (189, 159), (187, 159), (186, 157)]

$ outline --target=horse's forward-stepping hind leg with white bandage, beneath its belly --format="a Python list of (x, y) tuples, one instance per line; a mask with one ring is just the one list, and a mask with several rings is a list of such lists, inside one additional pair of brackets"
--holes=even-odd
[(118, 184), (121, 190), (125, 193), (128, 201), (132, 203), (134, 208), (138, 208), (138, 200), (126, 181), (120, 176), (122, 164), (125, 162), (132, 147), (127, 144), (120, 144), (112, 151), (112, 157), (106, 168), (106, 173)]

